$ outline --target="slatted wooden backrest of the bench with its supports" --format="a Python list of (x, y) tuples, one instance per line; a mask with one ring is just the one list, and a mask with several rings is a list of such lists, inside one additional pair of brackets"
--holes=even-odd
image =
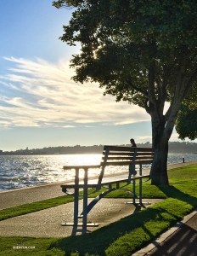
[(104, 146), (98, 184), (102, 182), (105, 166), (129, 166), (128, 182), (130, 182), (132, 175), (135, 175), (135, 166), (140, 165), (140, 168), (142, 168), (144, 164), (151, 164), (153, 158), (153, 148)]

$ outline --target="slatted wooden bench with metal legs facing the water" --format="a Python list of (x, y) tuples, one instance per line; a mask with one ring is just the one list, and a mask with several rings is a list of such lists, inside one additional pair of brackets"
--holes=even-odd
[[(65, 170), (75, 169), (75, 181), (61, 185), (62, 191), (69, 195), (74, 195), (74, 221), (73, 223), (65, 223), (62, 225), (82, 226), (82, 233), (86, 233), (87, 226), (98, 226), (98, 224), (87, 224), (87, 214), (95, 206), (95, 204), (115, 189), (125, 189), (127, 184), (132, 183), (132, 203), (142, 204), (142, 179), (149, 178), (149, 174), (143, 175), (143, 165), (151, 164), (154, 157), (154, 150), (152, 148), (132, 148), (132, 147), (118, 147), (118, 146), (104, 146), (103, 157), (100, 165), (89, 166), (63, 166)], [(136, 174), (135, 166), (139, 165), (139, 173)], [(113, 176), (105, 176), (104, 169), (106, 166), (127, 166), (127, 172), (115, 173)], [(88, 170), (99, 168), (100, 172), (97, 179), (88, 178)], [(79, 178), (79, 170), (84, 171), (82, 180)], [(139, 182), (139, 195), (136, 195), (136, 180)], [(121, 183), (124, 183), (123, 185)], [(113, 185), (113, 186), (112, 186)], [(98, 191), (104, 187), (106, 191), (100, 193), (87, 205), (88, 189), (94, 188)], [(70, 189), (74, 192), (70, 193)], [(78, 215), (79, 210), (79, 191), (82, 190), (83, 211)], [(128, 189), (126, 189), (128, 191)], [(139, 201), (136, 201), (136, 198)], [(82, 223), (79, 223), (79, 218), (82, 218)]]

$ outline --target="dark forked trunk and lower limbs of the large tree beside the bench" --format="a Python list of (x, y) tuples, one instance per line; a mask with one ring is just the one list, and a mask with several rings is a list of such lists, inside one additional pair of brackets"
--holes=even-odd
[[(149, 98), (144, 106), (151, 116), (152, 122), (152, 145), (155, 149), (155, 156), (151, 167), (151, 183), (154, 185), (168, 185), (167, 176), (167, 156), (168, 141), (172, 135), (172, 130), (177, 119), (177, 113), (184, 98), (184, 67), (180, 69), (177, 78), (175, 94), (172, 98), (171, 106), (164, 115), (164, 105), (166, 99), (167, 84), (158, 85), (158, 96), (155, 96), (155, 67), (149, 67)], [(149, 102), (149, 104), (147, 104)]]

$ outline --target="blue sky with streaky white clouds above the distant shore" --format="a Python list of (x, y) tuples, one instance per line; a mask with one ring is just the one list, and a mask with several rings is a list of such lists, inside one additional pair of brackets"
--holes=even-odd
[[(143, 108), (103, 96), (98, 84), (70, 78), (71, 55), (59, 40), (72, 9), (52, 0), (0, 1), (0, 149), (151, 142)], [(171, 141), (177, 141), (174, 130)]]

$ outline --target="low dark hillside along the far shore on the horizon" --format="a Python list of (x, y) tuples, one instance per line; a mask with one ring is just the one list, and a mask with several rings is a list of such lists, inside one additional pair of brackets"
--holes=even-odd
[[(131, 146), (130, 144), (122, 144), (119, 146)], [(151, 148), (151, 143), (138, 143), (138, 147)], [(32, 148), (32, 149), (19, 149), (11, 152), (3, 152), (0, 150), (0, 154), (101, 154), (104, 145), (93, 145), (93, 146), (80, 146), (74, 147), (61, 146), (61, 147), (48, 147), (48, 148)], [(169, 153), (197, 153), (197, 143), (169, 143)]]

